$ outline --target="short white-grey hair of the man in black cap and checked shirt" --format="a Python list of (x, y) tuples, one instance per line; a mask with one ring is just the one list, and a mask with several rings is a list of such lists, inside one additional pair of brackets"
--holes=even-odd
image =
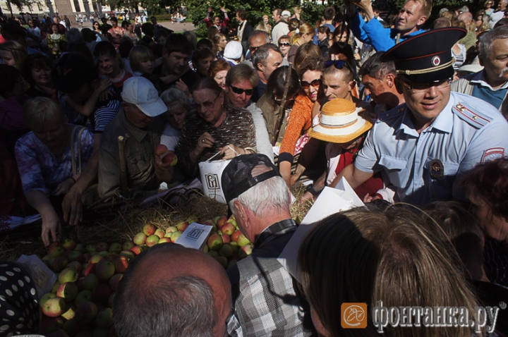
[[(268, 169), (265, 165), (257, 165), (254, 167), (253, 172), (263, 170), (262, 168)], [(270, 171), (266, 169), (260, 173), (257, 172), (258, 175)], [(280, 176), (264, 180), (231, 200), (229, 202), (229, 209), (231, 209), (233, 214), (236, 214), (234, 207), (234, 202), (236, 201), (243, 204), (259, 217), (266, 216), (273, 211), (281, 212), (283, 209), (289, 209), (291, 203), (286, 182)]]

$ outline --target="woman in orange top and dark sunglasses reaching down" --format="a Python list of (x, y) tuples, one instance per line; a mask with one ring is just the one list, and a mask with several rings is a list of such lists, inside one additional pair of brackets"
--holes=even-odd
[(323, 61), (309, 58), (301, 64), (297, 72), (302, 92), (296, 97), (279, 151), (279, 171), (288, 186), (294, 156), (301, 152), (308, 140), (307, 132), (312, 126), (314, 104), (323, 97)]

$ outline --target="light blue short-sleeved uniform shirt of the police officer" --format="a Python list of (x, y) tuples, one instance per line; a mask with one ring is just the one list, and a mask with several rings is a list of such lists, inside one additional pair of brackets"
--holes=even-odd
[(383, 172), (397, 198), (423, 206), (456, 197), (460, 177), (478, 163), (504, 157), (508, 123), (490, 104), (451, 92), (447, 106), (420, 135), (406, 104), (382, 114), (355, 161), (356, 169)]

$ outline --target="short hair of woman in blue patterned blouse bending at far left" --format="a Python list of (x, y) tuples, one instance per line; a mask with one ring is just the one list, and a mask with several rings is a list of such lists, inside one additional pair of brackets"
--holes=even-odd
[(60, 104), (47, 97), (35, 97), (23, 105), (23, 120), (30, 130), (40, 132), (48, 126), (63, 125), (65, 116)]

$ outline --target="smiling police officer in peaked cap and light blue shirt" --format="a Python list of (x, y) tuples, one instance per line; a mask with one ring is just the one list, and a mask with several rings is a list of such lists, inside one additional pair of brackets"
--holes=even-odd
[(356, 188), (382, 171), (397, 201), (465, 200), (457, 188), (464, 172), (504, 157), (507, 121), (490, 104), (450, 92), (450, 49), (465, 35), (456, 27), (430, 30), (387, 51), (382, 61), (394, 61), (406, 104), (380, 115), (355, 163), (332, 186), (344, 176)]

